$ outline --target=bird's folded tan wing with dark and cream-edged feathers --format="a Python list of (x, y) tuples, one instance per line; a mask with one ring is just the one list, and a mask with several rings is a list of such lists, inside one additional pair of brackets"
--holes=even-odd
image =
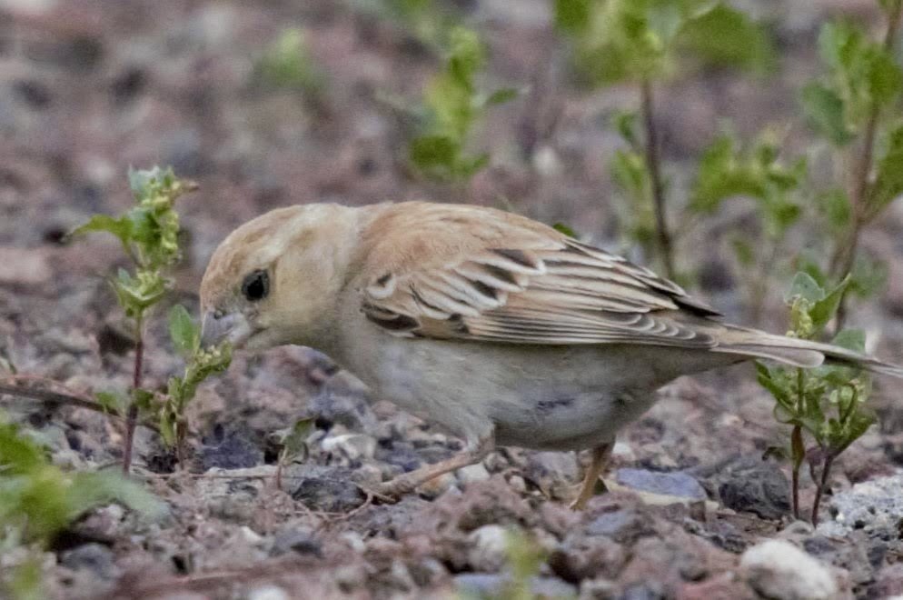
[(363, 232), (362, 311), (393, 335), (711, 348), (710, 306), (551, 227), (460, 205), (392, 205)]

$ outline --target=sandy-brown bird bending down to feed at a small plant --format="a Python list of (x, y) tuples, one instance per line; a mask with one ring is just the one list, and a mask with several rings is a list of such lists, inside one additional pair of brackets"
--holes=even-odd
[(312, 347), (461, 437), (458, 454), (372, 487), (396, 499), (511, 445), (590, 450), (571, 505), (582, 508), (615, 435), (680, 375), (827, 359), (903, 376), (835, 345), (724, 323), (649, 268), (476, 205), (274, 209), (216, 248), (200, 302), (204, 345)]

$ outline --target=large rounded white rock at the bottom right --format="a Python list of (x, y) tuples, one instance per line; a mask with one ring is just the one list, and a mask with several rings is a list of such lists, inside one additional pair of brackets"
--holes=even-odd
[(749, 585), (782, 600), (821, 600), (839, 594), (829, 567), (786, 540), (768, 540), (740, 557)]

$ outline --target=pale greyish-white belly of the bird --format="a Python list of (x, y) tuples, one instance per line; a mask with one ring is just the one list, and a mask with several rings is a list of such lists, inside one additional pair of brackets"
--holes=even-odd
[[(362, 335), (360, 328), (356, 335)], [(366, 335), (366, 334), (364, 334)], [(674, 377), (711, 355), (615, 345), (515, 346), (422, 341), (374, 331), (370, 352), (335, 356), (389, 400), (469, 444), (576, 450), (610, 441)], [(724, 364), (736, 357), (723, 355)]]

